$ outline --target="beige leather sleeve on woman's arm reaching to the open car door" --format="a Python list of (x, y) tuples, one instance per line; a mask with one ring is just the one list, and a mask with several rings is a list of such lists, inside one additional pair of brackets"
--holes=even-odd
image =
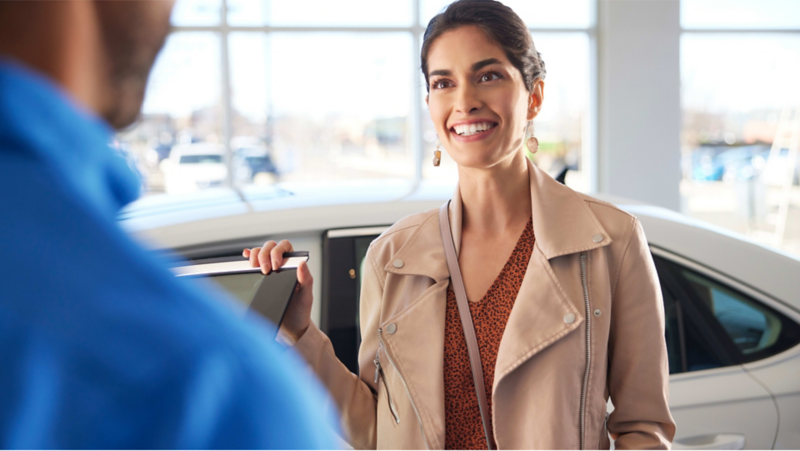
[(375, 372), (373, 359), (378, 343), (375, 333), (365, 331), (378, 328), (382, 293), (378, 272), (367, 252), (361, 286), (360, 376), (351, 373), (336, 357), (330, 339), (313, 323), (294, 345), (330, 391), (341, 411), (342, 429), (347, 441), (356, 449), (375, 449), (377, 445), (377, 385), (371, 376)]

